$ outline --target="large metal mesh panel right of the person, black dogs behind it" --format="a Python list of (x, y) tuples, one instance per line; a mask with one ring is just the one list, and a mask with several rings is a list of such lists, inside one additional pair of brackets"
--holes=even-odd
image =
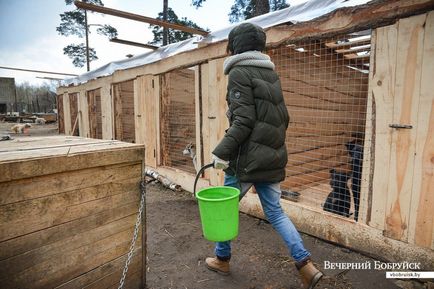
[(268, 54), (290, 114), (282, 197), (357, 219), (370, 35), (297, 42)]

